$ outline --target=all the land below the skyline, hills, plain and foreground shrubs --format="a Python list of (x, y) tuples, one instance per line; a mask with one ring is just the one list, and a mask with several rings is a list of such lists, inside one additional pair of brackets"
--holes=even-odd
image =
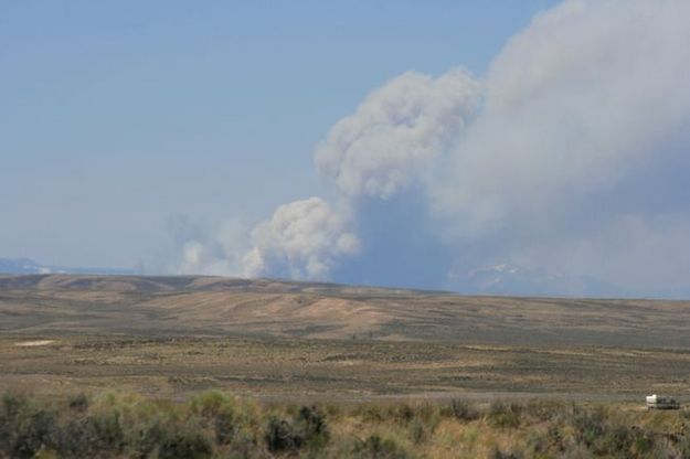
[[(110, 412), (121, 438), (104, 456), (135, 455), (144, 447), (132, 438), (148, 435), (130, 431), (136, 405), (162, 409), (173, 437), (199, 434), (190, 447), (200, 457), (682, 457), (687, 412), (647, 413), (644, 396), (690, 398), (688, 312), (689, 301), (2, 276), (0, 392), (6, 412), (20, 401), (26, 419), (53, 413), (57, 434), (44, 433), (32, 455), (64, 456), (71, 446), (55, 438), (70, 423)], [(87, 406), (76, 420), (55, 408), (75, 397)], [(233, 424), (242, 441), (219, 444), (200, 403), (250, 409), (248, 425)], [(306, 439), (314, 416), (328, 438)], [(6, 446), (23, 448), (18, 431), (32, 424), (12, 419), (6, 427), (19, 430)], [(293, 444), (272, 445), (288, 434)], [(79, 441), (87, 457), (93, 445)], [(151, 448), (148, 457), (166, 457)]]

